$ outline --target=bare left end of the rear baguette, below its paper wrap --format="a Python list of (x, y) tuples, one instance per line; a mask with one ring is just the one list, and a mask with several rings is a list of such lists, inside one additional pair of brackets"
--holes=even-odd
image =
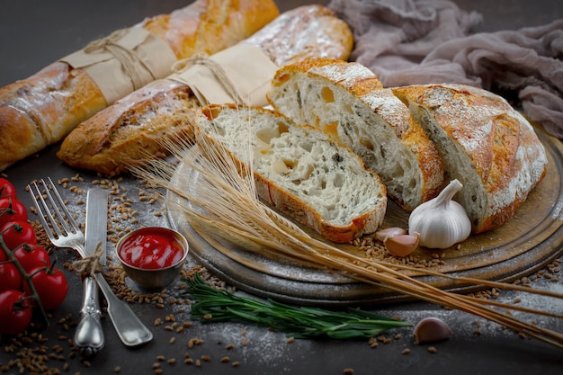
[(106, 105), (90, 76), (62, 62), (0, 88), (0, 170), (57, 142), (70, 124)]

